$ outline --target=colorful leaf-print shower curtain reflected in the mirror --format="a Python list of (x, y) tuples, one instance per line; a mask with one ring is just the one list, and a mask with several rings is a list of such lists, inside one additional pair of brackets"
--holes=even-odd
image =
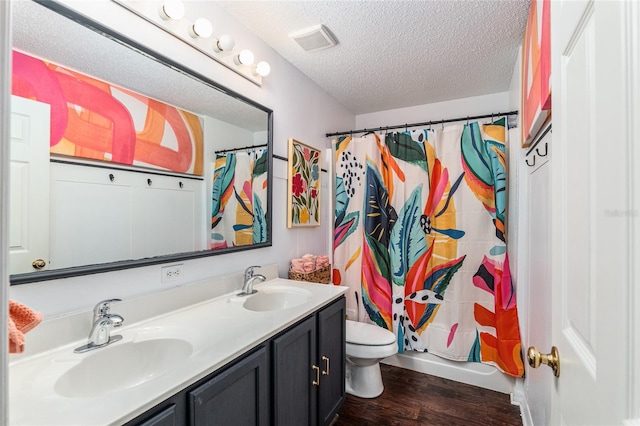
[(211, 195), (211, 249), (267, 241), (267, 150), (217, 154)]

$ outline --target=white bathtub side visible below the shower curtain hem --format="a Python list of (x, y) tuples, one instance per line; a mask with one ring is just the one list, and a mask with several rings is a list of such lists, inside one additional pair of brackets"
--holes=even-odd
[(507, 394), (513, 392), (515, 385), (513, 377), (491, 365), (450, 361), (430, 353), (408, 351), (385, 358), (381, 362)]

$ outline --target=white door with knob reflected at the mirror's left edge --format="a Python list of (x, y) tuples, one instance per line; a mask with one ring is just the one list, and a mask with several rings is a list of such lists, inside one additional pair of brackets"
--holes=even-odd
[(11, 274), (49, 264), (49, 105), (11, 97), (9, 265)]

